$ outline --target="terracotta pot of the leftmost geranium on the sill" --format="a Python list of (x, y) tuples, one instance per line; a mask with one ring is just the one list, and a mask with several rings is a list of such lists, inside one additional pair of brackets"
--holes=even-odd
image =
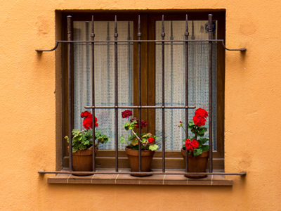
[[(95, 153), (98, 148), (95, 148)], [(96, 155), (96, 154), (95, 154)], [(72, 153), (72, 166), (74, 172), (92, 172), (93, 171), (93, 146), (90, 148), (76, 153)], [(74, 174), (77, 176), (86, 176), (91, 174)]]

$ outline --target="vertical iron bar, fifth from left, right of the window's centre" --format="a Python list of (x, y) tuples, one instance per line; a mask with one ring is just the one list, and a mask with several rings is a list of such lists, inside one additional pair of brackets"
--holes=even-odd
[[(162, 15), (162, 33), (161, 33), (162, 40), (165, 39), (165, 32), (164, 32), (164, 15)], [(165, 63), (164, 63), (164, 53), (165, 53), (165, 43), (162, 41), (162, 106), (165, 105)], [(162, 172), (165, 172), (165, 110), (162, 108)]]

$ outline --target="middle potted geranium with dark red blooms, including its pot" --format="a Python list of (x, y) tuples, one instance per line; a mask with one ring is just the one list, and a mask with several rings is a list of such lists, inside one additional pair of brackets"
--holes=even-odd
[[(141, 147), (141, 172), (150, 172), (151, 162), (155, 151), (159, 146), (158, 143), (155, 143), (155, 140), (159, 139), (157, 136), (153, 136), (151, 133), (143, 133), (141, 135), (138, 132), (134, 132), (134, 129), (138, 127), (147, 127), (148, 122), (141, 120), (139, 121), (136, 117), (132, 116), (131, 110), (124, 110), (122, 112), (122, 118), (128, 119), (123, 127), (126, 131), (131, 131), (131, 134), (128, 135), (128, 140), (124, 136), (120, 137), (120, 143), (127, 143), (126, 146), (126, 155), (128, 156), (131, 172), (138, 172), (138, 148)], [(150, 174), (131, 174), (137, 177), (150, 176)]]

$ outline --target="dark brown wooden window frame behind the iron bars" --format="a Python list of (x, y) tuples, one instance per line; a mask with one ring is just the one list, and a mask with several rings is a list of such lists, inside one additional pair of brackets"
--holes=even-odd
[[(91, 20), (91, 15), (94, 15), (94, 20), (114, 20), (117, 15), (118, 20), (131, 20), (133, 21), (134, 33), (133, 39), (137, 37), (138, 15), (141, 15), (141, 39), (155, 39), (155, 20), (161, 20), (164, 13), (165, 20), (185, 20), (185, 14), (188, 13), (188, 20), (207, 20), (208, 14), (213, 14), (213, 20), (218, 21), (217, 39), (224, 39), (226, 37), (226, 13), (225, 11), (133, 11), (133, 12), (120, 12), (120, 11), (87, 11), (81, 12), (63, 12), (62, 13), (62, 37), (67, 40), (67, 15), (72, 16), (73, 21), (78, 20)], [(149, 33), (148, 33), (149, 32)], [(134, 44), (133, 51), (133, 103), (138, 105), (138, 44)], [(63, 136), (68, 134), (68, 101), (67, 101), (67, 44), (62, 47), (62, 66), (63, 66)], [(73, 53), (72, 53), (73, 55)], [(155, 105), (155, 87), (148, 86), (148, 84), (155, 84), (155, 43), (142, 43), (141, 44), (141, 77), (142, 77), (142, 90), (141, 101), (142, 106)], [(72, 65), (73, 66), (73, 65)], [(72, 70), (73, 71), (73, 70)], [(150, 87), (150, 89), (148, 89)], [(218, 43), (217, 45), (217, 151), (213, 152), (214, 170), (224, 169), (224, 94), (225, 94), (225, 49)], [(73, 91), (72, 91), (73, 93)], [(73, 98), (73, 96), (72, 96)], [(73, 102), (73, 101), (72, 101)], [(72, 105), (73, 106), (73, 105)], [(134, 110), (138, 116), (138, 110)], [(73, 114), (72, 114), (73, 115)], [(148, 120), (147, 131), (155, 132), (155, 110), (143, 109), (142, 119)], [(64, 135), (65, 134), (65, 135)], [(63, 139), (63, 137), (62, 137)], [(64, 142), (63, 147), (63, 167), (68, 166), (68, 151), (67, 143)], [(99, 151), (96, 158), (97, 167), (115, 167), (115, 151)], [(126, 158), (124, 151), (119, 151), (119, 167), (129, 167), (129, 162)], [(152, 168), (162, 168), (162, 151), (155, 153), (155, 158), (152, 163)], [(181, 157), (180, 151), (166, 151), (166, 168), (179, 168), (184, 169), (185, 164)]]

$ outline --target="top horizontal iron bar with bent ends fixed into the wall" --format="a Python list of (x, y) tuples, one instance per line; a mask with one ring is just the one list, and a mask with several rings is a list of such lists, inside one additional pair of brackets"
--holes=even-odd
[(58, 40), (55, 43), (55, 47), (51, 50), (35, 50), (37, 52), (43, 52), (43, 51), (54, 51), (55, 49), (58, 48), (58, 44), (59, 43), (95, 43), (95, 42), (99, 42), (99, 43), (108, 43), (108, 42), (112, 42), (112, 43), (116, 43), (116, 42), (190, 42), (190, 41), (221, 41), (221, 43), (223, 44), (223, 48), (228, 50), (228, 51), (246, 51), (246, 48), (242, 48), (242, 49), (228, 49), (226, 48), (226, 45), (224, 44), (224, 40), (223, 39), (173, 39), (173, 40), (72, 40), (72, 41), (66, 41), (66, 40)]

